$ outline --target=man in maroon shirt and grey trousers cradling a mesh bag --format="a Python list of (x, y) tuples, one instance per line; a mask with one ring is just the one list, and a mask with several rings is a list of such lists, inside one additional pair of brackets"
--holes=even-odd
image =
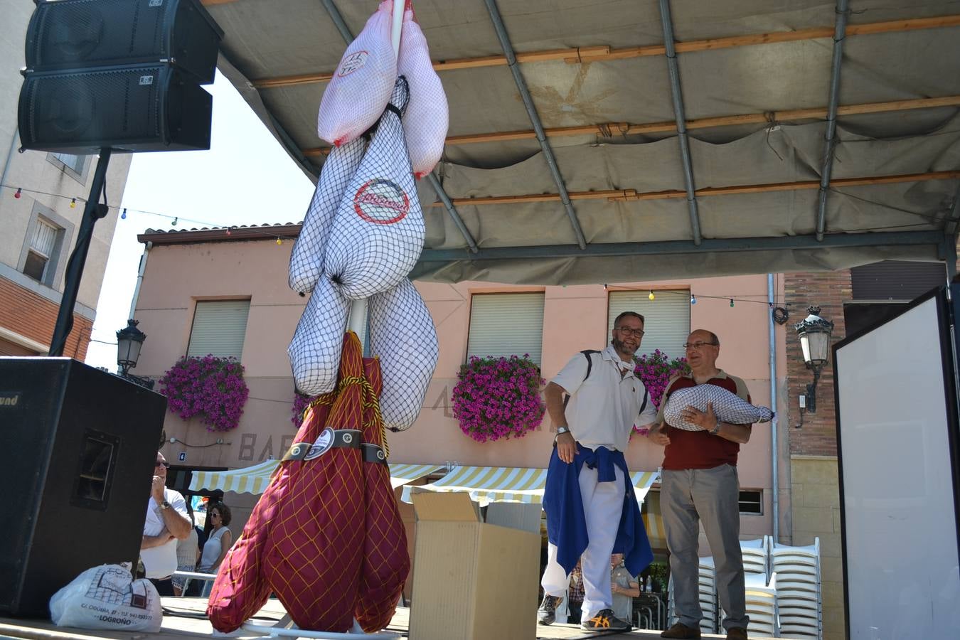
[(751, 425), (721, 422), (708, 404), (702, 412), (686, 407), (684, 420), (702, 431), (674, 429), (663, 419), (670, 393), (697, 385), (716, 385), (750, 402), (743, 380), (716, 367), (720, 340), (698, 329), (684, 344), (690, 374), (667, 383), (660, 400), (657, 425), (649, 439), (664, 446), (660, 472), (660, 511), (678, 622), (660, 633), (664, 638), (699, 638), (703, 611), (699, 596), (699, 522), (716, 565), (717, 597), (727, 612), (723, 627), (728, 640), (746, 640), (750, 618), (746, 610), (743, 556), (740, 552), (740, 487), (736, 460), (740, 445), (750, 440)]

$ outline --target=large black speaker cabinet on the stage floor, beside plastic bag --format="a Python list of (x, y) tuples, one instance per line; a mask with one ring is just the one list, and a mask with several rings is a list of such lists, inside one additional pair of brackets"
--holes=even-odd
[(69, 358), (0, 358), (0, 612), (47, 616), (139, 554), (166, 398)]

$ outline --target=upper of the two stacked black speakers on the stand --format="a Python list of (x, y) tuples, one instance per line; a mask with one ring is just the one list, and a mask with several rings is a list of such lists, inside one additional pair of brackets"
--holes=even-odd
[(170, 60), (198, 83), (212, 83), (222, 37), (196, 0), (41, 1), (27, 28), (27, 68)]

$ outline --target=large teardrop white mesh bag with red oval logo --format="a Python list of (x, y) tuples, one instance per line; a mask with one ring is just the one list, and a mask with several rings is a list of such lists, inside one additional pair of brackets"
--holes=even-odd
[(324, 273), (352, 299), (396, 287), (423, 249), (423, 212), (400, 124), (407, 95), (406, 80), (397, 78), (330, 229)]

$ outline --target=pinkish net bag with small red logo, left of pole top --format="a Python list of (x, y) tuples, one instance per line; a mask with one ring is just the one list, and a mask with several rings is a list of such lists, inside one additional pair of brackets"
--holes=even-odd
[(350, 42), (326, 85), (317, 116), (317, 133), (340, 146), (370, 129), (387, 106), (396, 80), (390, 41), (393, 2), (384, 0)]

